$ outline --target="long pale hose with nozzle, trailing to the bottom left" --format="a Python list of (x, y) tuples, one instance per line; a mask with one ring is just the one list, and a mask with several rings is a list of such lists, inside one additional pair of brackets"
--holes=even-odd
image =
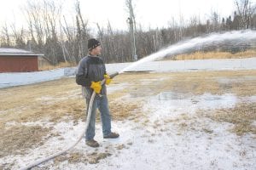
[[(115, 73), (111, 74), (110, 77), (113, 78), (113, 77), (117, 76), (118, 74), (119, 74), (119, 72), (115, 72)], [(101, 84), (104, 84), (105, 81), (106, 81), (106, 80), (103, 79), (102, 82), (101, 82)], [(96, 96), (96, 93), (95, 93), (95, 91), (94, 91), (94, 92), (91, 94), (91, 97), (90, 97), (90, 103), (89, 103), (89, 107), (88, 107), (88, 111), (87, 111), (87, 114), (88, 114), (88, 115), (87, 115), (87, 118), (86, 118), (84, 131), (83, 131), (83, 133), (80, 135), (79, 139), (78, 139), (74, 144), (72, 144), (71, 146), (69, 146), (69, 147), (68, 147), (67, 149), (65, 149), (65, 150), (61, 150), (61, 151), (59, 151), (59, 152), (57, 152), (57, 153), (55, 153), (55, 154), (53, 154), (53, 155), (51, 155), (51, 156), (48, 156), (48, 157), (39, 159), (38, 161), (35, 161), (35, 162), (33, 162), (32, 164), (30, 164), (30, 165), (28, 165), (28, 166), (26, 166), (26, 167), (21, 167), (20, 170), (25, 170), (25, 169), (30, 169), (30, 168), (32, 168), (32, 167), (36, 167), (36, 166), (38, 166), (39, 164), (41, 164), (41, 163), (43, 163), (43, 162), (45, 162), (45, 161), (49, 161), (49, 160), (55, 158), (56, 156), (60, 156), (61, 154), (66, 153), (68, 150), (71, 150), (74, 146), (76, 146), (77, 144), (79, 144), (79, 141), (80, 141), (81, 139), (83, 139), (84, 133), (86, 132), (86, 130), (87, 130), (88, 126), (89, 126), (89, 123), (90, 123), (90, 116), (91, 116), (91, 108), (92, 108), (92, 104), (93, 104), (93, 102), (94, 102), (95, 96)]]

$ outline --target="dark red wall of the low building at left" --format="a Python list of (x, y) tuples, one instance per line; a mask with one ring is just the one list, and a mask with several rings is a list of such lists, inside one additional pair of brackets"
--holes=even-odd
[(0, 72), (38, 71), (38, 56), (0, 56)]

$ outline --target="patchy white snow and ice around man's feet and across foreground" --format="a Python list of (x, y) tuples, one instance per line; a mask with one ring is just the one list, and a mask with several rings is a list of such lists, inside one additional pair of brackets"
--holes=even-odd
[[(147, 80), (145, 81), (147, 83)], [(123, 83), (108, 88), (128, 88)], [(131, 96), (125, 99), (136, 100)], [(163, 92), (143, 98), (145, 116), (137, 121), (113, 121), (113, 131), (120, 133), (119, 139), (102, 139), (101, 123), (96, 123), (96, 140), (101, 147), (93, 149), (84, 144), (84, 139), (66, 155), (79, 153), (79, 161), (48, 161), (33, 169), (255, 169), (256, 143), (253, 135), (242, 137), (230, 133), (233, 125), (227, 122), (213, 122), (206, 117), (193, 119), (198, 110), (232, 108), (241, 101), (255, 101), (256, 96), (236, 97), (234, 94), (212, 95)], [(73, 144), (84, 128), (84, 122), (59, 122), (47, 120), (28, 122), (27, 126), (42, 125), (54, 127), (58, 135), (50, 137), (44, 145), (28, 150), (25, 156), (6, 156), (0, 164), (13, 163), (13, 169), (26, 166), (32, 161), (54, 154)], [(193, 121), (195, 121), (193, 124)], [(190, 124), (189, 124), (190, 123)], [(183, 126), (187, 125), (189, 127)], [(10, 122), (9, 126), (15, 125)], [(190, 127), (191, 126), (191, 127)], [(184, 128), (183, 128), (184, 127)], [(98, 163), (83, 161), (83, 156), (108, 153), (109, 156)], [(74, 155), (76, 156), (76, 155)], [(65, 156), (62, 156), (62, 158)]]

